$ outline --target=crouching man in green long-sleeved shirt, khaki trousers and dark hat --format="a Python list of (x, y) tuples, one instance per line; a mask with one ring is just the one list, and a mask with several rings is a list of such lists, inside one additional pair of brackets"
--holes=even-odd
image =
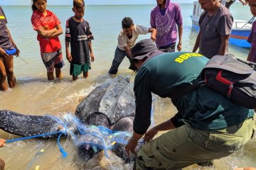
[[(147, 131), (151, 93), (170, 97), (178, 86), (193, 84), (208, 58), (191, 52), (163, 54), (149, 39), (132, 48), (132, 57), (131, 67), (138, 69), (134, 80), (136, 114), (134, 132), (125, 149), (136, 154), (134, 149), (143, 135), (149, 142), (137, 154), (137, 169), (182, 169), (227, 157), (250, 140), (254, 112), (206, 86), (171, 99), (178, 113)], [(161, 130), (169, 131), (152, 140)]]

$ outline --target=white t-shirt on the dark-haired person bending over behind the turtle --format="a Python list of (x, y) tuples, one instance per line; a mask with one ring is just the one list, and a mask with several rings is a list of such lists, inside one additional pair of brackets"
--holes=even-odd
[(146, 28), (144, 26), (137, 26), (134, 25), (134, 30), (132, 30), (132, 38), (129, 39), (127, 37), (127, 34), (122, 30), (119, 35), (118, 35), (118, 44), (117, 47), (120, 50), (124, 50), (124, 47), (128, 45), (129, 48), (133, 47), (137, 38), (139, 37), (140, 34), (147, 34), (149, 33), (149, 28)]

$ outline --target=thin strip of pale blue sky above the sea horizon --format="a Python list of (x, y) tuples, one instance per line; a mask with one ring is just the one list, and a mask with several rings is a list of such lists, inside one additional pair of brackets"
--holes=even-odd
[[(48, 5), (72, 5), (72, 0), (48, 0)], [(172, 0), (176, 3), (193, 3), (193, 0)], [(156, 0), (85, 0), (87, 5), (105, 4), (155, 4)], [(0, 5), (30, 6), (31, 0), (0, 0)]]

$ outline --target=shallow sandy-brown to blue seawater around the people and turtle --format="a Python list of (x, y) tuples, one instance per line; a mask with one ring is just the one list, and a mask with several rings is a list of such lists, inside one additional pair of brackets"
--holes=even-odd
[[(1, 2), (0, 2), (1, 4)], [(129, 7), (129, 8), (128, 8)], [(4, 11), (9, 20), (9, 29), (16, 44), (21, 50), (21, 57), (14, 59), (14, 72), (17, 77), (17, 86), (6, 92), (0, 92), (0, 109), (8, 109), (27, 115), (65, 115), (74, 114), (87, 94), (97, 85), (109, 81), (115, 76), (107, 74), (110, 69), (114, 50), (117, 46), (117, 35), (121, 29), (121, 21), (125, 16), (134, 19), (134, 23), (149, 26), (149, 13), (151, 5), (141, 6), (87, 6), (85, 20), (89, 21), (95, 40), (92, 47), (95, 52), (95, 62), (87, 79), (72, 81), (69, 75), (69, 63), (65, 60), (64, 35), (60, 35), (63, 45), (63, 79), (58, 81), (46, 80), (46, 69), (41, 61), (36, 32), (32, 29), (29, 6), (4, 6)], [(73, 16), (71, 6), (48, 6), (62, 22), (65, 30), (65, 21)], [(132, 12), (131, 12), (132, 8)], [(191, 30), (190, 15), (193, 12), (192, 4), (181, 4), (183, 12), (183, 51), (191, 51), (196, 40), (197, 32)], [(239, 3), (232, 6), (231, 12), (235, 19), (249, 20), (251, 18), (248, 6)], [(142, 35), (138, 40), (149, 38)], [(246, 58), (248, 49), (229, 45), (229, 52), (235, 56)], [(129, 61), (124, 61), (119, 67), (118, 74), (134, 79), (134, 73), (127, 69)], [(162, 123), (176, 114), (176, 108), (168, 98), (156, 97), (155, 124)], [(160, 134), (159, 134), (160, 135)], [(6, 140), (17, 138), (0, 130), (0, 137)], [(0, 149), (0, 158), (6, 162), (6, 170), (26, 169), (132, 169), (132, 164), (124, 164), (122, 159), (109, 153), (105, 157), (100, 153), (89, 162), (82, 162), (78, 157), (78, 148), (75, 147), (70, 137), (62, 137), (60, 145), (68, 153), (63, 158), (59, 152), (57, 140), (24, 140), (13, 142)], [(202, 168), (189, 166), (186, 169), (220, 169), (229, 170), (237, 166), (256, 166), (256, 140), (250, 140), (239, 152), (223, 159), (215, 160), (214, 167)], [(44, 152), (41, 152), (44, 149)], [(36, 156), (37, 155), (37, 156)]]

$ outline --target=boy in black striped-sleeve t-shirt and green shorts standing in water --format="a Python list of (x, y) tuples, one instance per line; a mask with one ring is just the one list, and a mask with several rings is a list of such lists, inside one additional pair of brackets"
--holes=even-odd
[[(83, 19), (85, 14), (85, 2), (83, 0), (73, 1), (74, 16), (68, 18), (65, 30), (66, 57), (70, 62), (70, 75), (73, 80), (83, 73), (83, 77), (89, 75), (90, 62), (95, 57), (92, 52), (93, 35), (90, 25)], [(71, 46), (71, 52), (70, 52)]]

